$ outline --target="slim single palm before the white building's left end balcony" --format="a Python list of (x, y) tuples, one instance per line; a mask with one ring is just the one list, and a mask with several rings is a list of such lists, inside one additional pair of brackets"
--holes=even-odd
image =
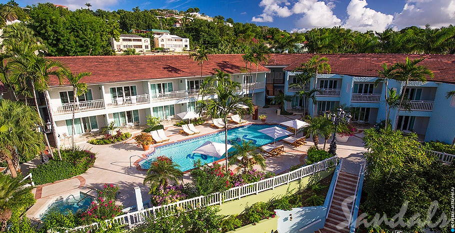
[(73, 100), (72, 100), (72, 125), (71, 125), (71, 148), (74, 150), (74, 115), (76, 112), (77, 97), (88, 91), (87, 84), (80, 82), (83, 77), (91, 75), (89, 72), (71, 73), (69, 70), (63, 72), (63, 75), (72, 86)]

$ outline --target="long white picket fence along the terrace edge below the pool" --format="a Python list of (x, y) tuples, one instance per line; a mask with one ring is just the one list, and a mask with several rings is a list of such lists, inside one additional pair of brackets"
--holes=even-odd
[[(133, 227), (145, 221), (148, 216), (161, 212), (164, 216), (171, 215), (175, 210), (190, 210), (196, 207), (205, 207), (209, 205), (222, 204), (223, 202), (240, 199), (242, 197), (257, 194), (259, 192), (274, 189), (291, 181), (301, 179), (318, 171), (325, 170), (337, 165), (339, 158), (336, 156), (324, 159), (311, 165), (303, 166), (298, 169), (289, 171), (284, 174), (276, 175), (267, 179), (262, 179), (254, 183), (248, 183), (243, 186), (233, 187), (222, 192), (215, 192), (206, 196), (196, 196), (189, 199), (180, 200), (170, 204), (153, 206), (139, 211), (128, 212), (112, 219), (105, 220), (107, 224), (118, 223), (128, 227)], [(95, 222), (90, 225), (78, 226), (66, 230), (65, 232), (86, 232), (88, 230), (98, 229), (99, 223)]]

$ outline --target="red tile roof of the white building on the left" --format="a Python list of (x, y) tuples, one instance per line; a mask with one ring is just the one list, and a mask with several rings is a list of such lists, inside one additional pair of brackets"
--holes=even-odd
[[(116, 55), (116, 56), (55, 56), (48, 57), (63, 62), (71, 72), (91, 72), (84, 77), (87, 84), (148, 80), (173, 77), (196, 77), (200, 65), (188, 55)], [(244, 72), (245, 62), (241, 54), (210, 54), (203, 62), (202, 75), (213, 75), (215, 69), (227, 73)], [(252, 65), (252, 71), (256, 67)], [(259, 65), (259, 72), (269, 69)], [(64, 82), (63, 84), (67, 84)], [(49, 85), (58, 85), (58, 79), (51, 77)]]

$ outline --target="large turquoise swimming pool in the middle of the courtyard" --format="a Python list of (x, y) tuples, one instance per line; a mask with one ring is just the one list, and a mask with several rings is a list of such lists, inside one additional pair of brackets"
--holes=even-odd
[[(270, 142), (273, 142), (273, 138), (261, 132), (258, 132), (258, 130), (273, 126), (285, 128), (277, 124), (274, 125), (249, 124), (245, 126), (228, 129), (227, 140), (231, 140), (234, 142), (238, 142), (241, 140), (251, 140), (256, 146), (268, 144)], [(278, 137), (276, 138), (276, 140), (280, 140), (284, 137)], [(191, 153), (191, 151), (199, 147), (205, 141), (224, 143), (224, 131), (211, 133), (208, 135), (199, 136), (167, 145), (157, 146), (155, 150), (152, 153), (148, 154), (145, 159), (139, 161), (139, 165), (142, 169), (148, 169), (150, 167), (150, 161), (152, 161), (157, 156), (165, 155), (169, 158), (172, 158), (172, 160), (180, 166), (179, 169), (181, 171), (185, 171), (194, 168), (193, 163), (197, 159), (200, 159), (202, 164), (210, 163), (212, 161), (220, 159), (217, 157)], [(232, 143), (233, 142), (229, 144)], [(232, 152), (233, 150), (234, 149), (232, 147), (228, 150), (228, 152)]]

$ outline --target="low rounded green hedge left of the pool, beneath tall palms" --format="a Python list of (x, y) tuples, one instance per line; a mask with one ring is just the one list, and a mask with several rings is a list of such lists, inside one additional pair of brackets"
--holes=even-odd
[(82, 174), (95, 162), (95, 153), (88, 150), (60, 150), (61, 159), (50, 159), (30, 170), (36, 185), (51, 183), (61, 179), (71, 178)]

